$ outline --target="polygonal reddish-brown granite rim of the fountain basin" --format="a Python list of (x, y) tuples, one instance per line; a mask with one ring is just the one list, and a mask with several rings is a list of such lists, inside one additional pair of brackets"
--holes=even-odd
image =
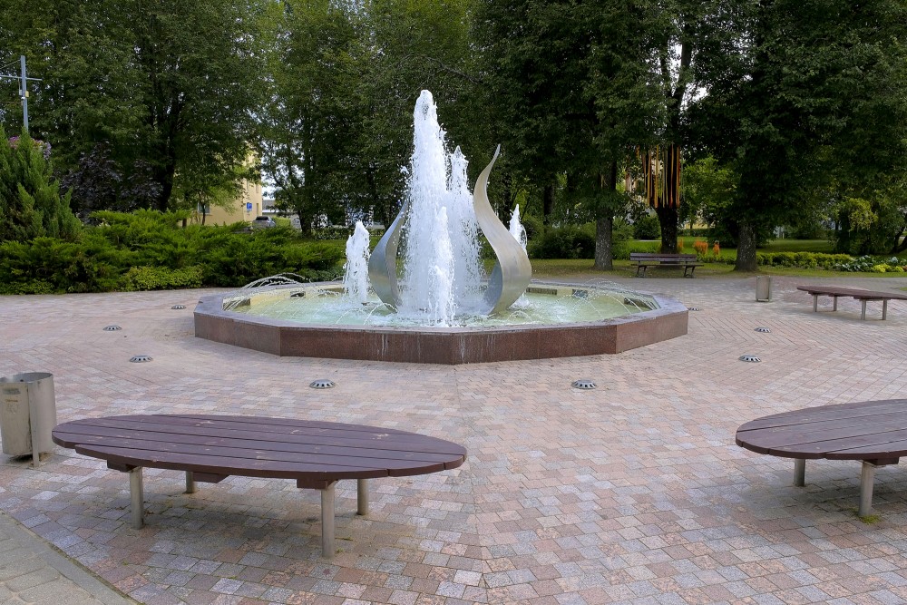
[[(532, 287), (571, 288), (580, 297), (582, 292), (599, 289), (539, 282), (532, 282)], [(306, 288), (336, 288), (336, 284)], [(654, 300), (658, 308), (621, 317), (489, 327), (300, 324), (224, 310), (225, 299), (235, 296), (201, 298), (195, 308), (195, 336), (277, 356), (444, 365), (590, 356), (684, 336), (688, 324), (687, 307), (658, 295), (642, 295)]]

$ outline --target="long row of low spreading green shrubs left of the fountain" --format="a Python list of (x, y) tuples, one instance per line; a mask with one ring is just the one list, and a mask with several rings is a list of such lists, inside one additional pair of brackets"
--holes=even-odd
[(342, 244), (304, 241), (288, 227), (236, 233), (180, 229), (179, 213), (96, 214), (103, 225), (76, 242), (0, 244), (0, 293), (239, 287), (286, 272), (320, 281), (336, 278), (345, 257)]

